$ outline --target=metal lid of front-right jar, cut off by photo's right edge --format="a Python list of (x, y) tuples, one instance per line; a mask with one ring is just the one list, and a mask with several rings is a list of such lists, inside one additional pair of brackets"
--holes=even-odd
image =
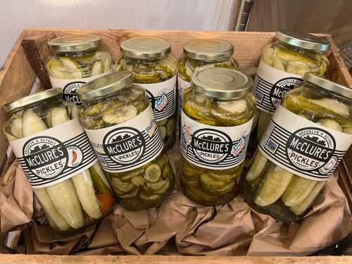
[(312, 73), (306, 73), (303, 76), (303, 80), (313, 83), (318, 87), (321, 87), (322, 89), (325, 89), (329, 92), (333, 92), (334, 94), (339, 94), (340, 96), (344, 96), (352, 100), (352, 89), (344, 85), (338, 84), (336, 82), (332, 82), (331, 80), (327, 80), (324, 77), (313, 75)]

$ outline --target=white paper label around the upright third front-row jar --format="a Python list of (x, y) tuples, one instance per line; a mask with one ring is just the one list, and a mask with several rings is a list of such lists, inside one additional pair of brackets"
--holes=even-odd
[(190, 163), (202, 168), (224, 170), (246, 158), (253, 118), (234, 127), (204, 125), (181, 113), (181, 152)]

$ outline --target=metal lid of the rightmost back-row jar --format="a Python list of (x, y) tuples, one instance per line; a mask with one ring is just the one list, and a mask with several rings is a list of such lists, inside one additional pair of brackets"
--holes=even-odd
[(286, 44), (314, 51), (327, 51), (330, 46), (330, 43), (324, 37), (303, 32), (280, 30), (276, 32), (275, 37)]

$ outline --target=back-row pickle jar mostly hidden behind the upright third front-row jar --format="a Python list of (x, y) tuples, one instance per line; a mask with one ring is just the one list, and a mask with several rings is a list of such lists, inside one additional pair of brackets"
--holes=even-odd
[(184, 92), (191, 87), (191, 75), (197, 69), (220, 67), (237, 69), (237, 61), (232, 58), (234, 46), (221, 39), (195, 39), (183, 47), (184, 58), (177, 66), (178, 105), (182, 110)]

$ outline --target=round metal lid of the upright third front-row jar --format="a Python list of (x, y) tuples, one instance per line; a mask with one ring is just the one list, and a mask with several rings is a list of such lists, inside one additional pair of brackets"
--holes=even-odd
[(248, 75), (227, 68), (205, 68), (192, 75), (192, 89), (218, 99), (236, 99), (245, 96), (253, 87)]

